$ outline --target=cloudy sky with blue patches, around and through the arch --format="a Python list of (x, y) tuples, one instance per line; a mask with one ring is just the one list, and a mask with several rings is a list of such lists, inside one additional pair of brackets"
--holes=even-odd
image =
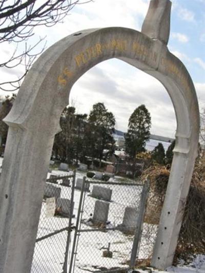
[[(205, 108), (205, 0), (172, 0), (169, 50), (187, 67), (196, 88), (200, 109)], [(36, 38), (47, 35), (47, 47), (79, 30), (120, 26), (141, 30), (148, 0), (94, 0), (71, 10), (63, 24), (38, 27)], [(1, 58), (14, 45), (4, 45)], [(11, 76), (1, 71), (1, 78)], [(13, 74), (18, 71), (13, 70)], [(0, 94), (6, 94), (0, 92)], [(169, 95), (158, 80), (117, 59), (101, 62), (73, 86), (70, 104), (78, 113), (89, 113), (96, 102), (104, 102), (116, 118), (116, 129), (127, 131), (128, 119), (140, 104), (151, 113), (151, 133), (174, 137), (176, 118)]]

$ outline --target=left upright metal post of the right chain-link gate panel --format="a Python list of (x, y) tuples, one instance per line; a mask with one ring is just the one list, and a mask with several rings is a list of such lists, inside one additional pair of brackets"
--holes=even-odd
[(77, 232), (78, 232), (78, 225), (79, 225), (79, 220), (80, 220), (80, 213), (81, 213), (81, 206), (83, 203), (83, 197), (84, 197), (84, 190), (85, 190), (85, 182), (86, 182), (86, 177), (83, 178), (83, 184), (81, 188), (81, 193), (80, 193), (80, 200), (79, 200), (79, 207), (78, 207), (78, 212), (77, 212), (77, 219), (76, 219), (76, 226), (75, 226), (75, 233), (73, 237), (73, 247), (72, 247), (72, 253), (71, 253), (71, 259), (70, 259), (70, 265), (69, 265), (69, 273), (72, 272), (72, 265), (73, 265), (73, 258), (75, 255), (75, 246), (76, 246), (76, 239), (77, 239)]

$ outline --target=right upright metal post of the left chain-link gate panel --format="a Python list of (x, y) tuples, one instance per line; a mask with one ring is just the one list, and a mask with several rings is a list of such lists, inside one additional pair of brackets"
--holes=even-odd
[(68, 224), (68, 235), (67, 235), (67, 242), (66, 242), (66, 253), (65, 253), (64, 266), (63, 266), (63, 273), (68, 272), (67, 271), (68, 270), (68, 253), (69, 253), (70, 234), (71, 234), (71, 225), (72, 225), (72, 216), (73, 216), (75, 175), (76, 175), (76, 170), (73, 171), (72, 190), (71, 190), (71, 207), (70, 207), (70, 217), (69, 217), (69, 224)]

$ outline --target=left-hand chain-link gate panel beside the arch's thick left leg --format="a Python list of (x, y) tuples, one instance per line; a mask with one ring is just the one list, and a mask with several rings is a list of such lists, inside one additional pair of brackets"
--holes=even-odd
[(74, 185), (75, 171), (46, 180), (32, 273), (67, 273)]

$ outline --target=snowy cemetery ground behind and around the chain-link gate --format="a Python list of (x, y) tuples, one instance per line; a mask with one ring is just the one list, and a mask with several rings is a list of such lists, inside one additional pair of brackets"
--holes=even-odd
[[(3, 158), (0, 157), (0, 166), (2, 165)], [(56, 174), (58, 176), (65, 176), (71, 173), (53, 170), (52, 174)], [(51, 173), (48, 173), (49, 178)], [(84, 172), (76, 172), (76, 179), (83, 178), (86, 175)], [(120, 182), (124, 181), (124, 178), (115, 176), (114, 178), (110, 178), (109, 181), (112, 182)], [(133, 182), (132, 180), (126, 179), (126, 181)], [(58, 185), (59, 186), (59, 185)], [(125, 205), (133, 205), (133, 198), (129, 199), (129, 194), (133, 193), (132, 186), (129, 187), (129, 190), (125, 188), (126, 186), (122, 185), (121, 187), (117, 187), (117, 190), (120, 191), (116, 192), (116, 189), (113, 191), (115, 195), (115, 199), (118, 196), (119, 200), (117, 201), (119, 204), (124, 203)], [(67, 188), (70, 191), (70, 188)], [(136, 187), (135, 199), (140, 195), (141, 188)], [(85, 198), (85, 205), (84, 205), (84, 215), (81, 229), (92, 229), (89, 226), (89, 216), (92, 213), (94, 208), (94, 202), (96, 199), (91, 198), (89, 193), (86, 193), (88, 197)], [(62, 192), (62, 198), (67, 198), (66, 191)], [(74, 192), (74, 211), (73, 211), (73, 218), (72, 224), (75, 225), (76, 215), (78, 211), (78, 204), (80, 198), (80, 191), (75, 190)], [(129, 202), (130, 200), (130, 202)], [(139, 200), (138, 200), (139, 201)], [(108, 224), (107, 228), (111, 228), (122, 221), (123, 212), (119, 211), (119, 207), (113, 206), (115, 211), (112, 211), (108, 216)], [(43, 202), (42, 204), (42, 215), (45, 215), (46, 203)], [(44, 236), (48, 233), (52, 233), (57, 228), (57, 224), (59, 219), (56, 217), (52, 217), (47, 219), (47, 221), (39, 221), (38, 226), (38, 235)], [(56, 224), (55, 224), (56, 221)], [(52, 222), (52, 225), (49, 223)], [(61, 227), (66, 227), (68, 225), (68, 218), (61, 218), (60, 220)], [(52, 229), (51, 229), (52, 227)], [(138, 259), (147, 259), (150, 258), (152, 253), (155, 236), (156, 236), (157, 226), (156, 225), (149, 225), (144, 223), (140, 241), (140, 247), (138, 250)], [(71, 250), (72, 250), (72, 237), (74, 232), (71, 232), (70, 237), (70, 246), (69, 246), (69, 255), (68, 261), (70, 259)], [(75, 259), (75, 268), (74, 271), (76, 273), (85, 273), (85, 272), (95, 272), (100, 270), (108, 270), (108, 269), (115, 269), (117, 267), (127, 267), (126, 262), (130, 260), (131, 250), (132, 250), (132, 243), (133, 243), (133, 234), (125, 234), (122, 233), (120, 230), (108, 230), (107, 232), (83, 232), (80, 234), (80, 239), (78, 240), (78, 248), (77, 248), (77, 255)], [(34, 251), (34, 258), (32, 263), (31, 273), (46, 273), (46, 272), (61, 272), (62, 271), (62, 261), (64, 260), (64, 255), (62, 255), (65, 251), (66, 247), (66, 240), (67, 240), (67, 232), (59, 233), (56, 236), (47, 238), (44, 243), (37, 243), (35, 246)], [(108, 243), (111, 242), (110, 250), (113, 253), (112, 258), (105, 258), (103, 257), (103, 251), (107, 248)], [(60, 251), (61, 250), (61, 251)], [(62, 257), (59, 257), (58, 253)], [(44, 257), (44, 259), (42, 259)], [(61, 262), (60, 262), (61, 261)], [(69, 266), (69, 265), (68, 265)], [(55, 268), (55, 269), (54, 269)], [(141, 269), (137, 269), (138, 272), (146, 272)], [(149, 269), (148, 269), (149, 271)], [(157, 270), (152, 270), (152, 272), (159, 272)], [(160, 271), (162, 273), (162, 271)], [(177, 273), (204, 273), (205, 272), (205, 255), (198, 255), (196, 256), (192, 262), (188, 265), (184, 265), (183, 261), (180, 261), (180, 264), (177, 267), (171, 266), (166, 269), (166, 272), (177, 272)]]

